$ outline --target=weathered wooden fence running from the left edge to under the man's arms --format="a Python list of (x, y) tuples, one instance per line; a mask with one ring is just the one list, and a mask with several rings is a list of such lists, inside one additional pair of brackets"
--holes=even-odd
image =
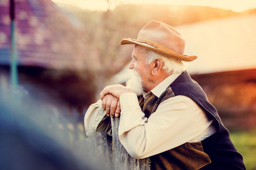
[[(8, 97), (12, 92), (1, 91), (0, 101), (4, 99), (9, 101), (8, 106), (12, 106), (12, 100)], [(17, 97), (17, 96), (15, 96)], [(82, 163), (90, 162), (95, 169), (150, 169), (149, 159), (133, 159), (118, 139), (119, 118), (111, 118), (112, 137), (106, 133), (96, 133), (94, 137), (85, 138), (84, 128), (81, 126), (83, 118), (75, 109), (68, 108), (65, 105), (54, 105), (53, 103), (41, 102), (30, 96), (18, 96), (20, 113), (26, 119), (29, 119), (36, 127), (42, 129), (42, 133), (47, 134), (49, 138), (60, 146), (74, 151), (75, 158)], [(37, 101), (37, 102), (36, 102)], [(1, 102), (0, 102), (1, 103)], [(25, 129), (30, 129), (30, 125), (23, 125)], [(31, 130), (32, 131), (32, 130)], [(79, 141), (80, 140), (80, 141)], [(74, 142), (78, 141), (78, 142)], [(47, 141), (44, 141), (47, 143)], [(33, 143), (33, 146), (36, 143)], [(46, 145), (46, 144), (45, 144)], [(51, 145), (51, 143), (47, 143)], [(44, 150), (40, 148), (40, 150)], [(72, 153), (73, 154), (73, 153)], [(70, 159), (72, 155), (69, 155)], [(91, 166), (90, 166), (91, 167)]]

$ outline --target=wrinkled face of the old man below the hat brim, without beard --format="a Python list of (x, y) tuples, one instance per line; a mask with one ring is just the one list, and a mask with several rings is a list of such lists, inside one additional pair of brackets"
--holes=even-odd
[(146, 49), (135, 45), (133, 49), (133, 60), (129, 65), (129, 69), (134, 69), (141, 78), (142, 88), (148, 92), (148, 83), (152, 82), (150, 79), (150, 65), (146, 65)]

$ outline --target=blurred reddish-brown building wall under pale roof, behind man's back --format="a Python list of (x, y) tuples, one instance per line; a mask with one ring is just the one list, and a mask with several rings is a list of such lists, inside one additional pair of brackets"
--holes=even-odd
[(256, 69), (192, 75), (229, 130), (256, 128)]

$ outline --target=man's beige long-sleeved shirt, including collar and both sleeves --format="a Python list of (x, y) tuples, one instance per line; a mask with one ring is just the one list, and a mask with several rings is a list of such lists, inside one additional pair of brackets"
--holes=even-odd
[[(170, 75), (151, 92), (159, 97), (179, 75)], [(150, 94), (146, 94), (145, 99)], [(137, 96), (120, 96), (119, 140), (133, 158), (146, 158), (186, 142), (200, 142), (216, 132), (207, 114), (190, 98), (174, 96), (163, 101), (149, 118), (144, 117)], [(85, 130), (94, 135), (105, 116), (101, 100), (85, 114)]]

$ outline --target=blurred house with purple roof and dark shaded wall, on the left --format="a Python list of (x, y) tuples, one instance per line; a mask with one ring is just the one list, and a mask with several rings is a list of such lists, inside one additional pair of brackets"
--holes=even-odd
[[(83, 24), (51, 0), (14, 2), (19, 85), (38, 100), (47, 94), (70, 107), (84, 107), (87, 100), (94, 98), (94, 91), (85, 94), (88, 82), (79, 77), (86, 62)], [(2, 0), (0, 90), (10, 85), (10, 25), (10, 1)]]

